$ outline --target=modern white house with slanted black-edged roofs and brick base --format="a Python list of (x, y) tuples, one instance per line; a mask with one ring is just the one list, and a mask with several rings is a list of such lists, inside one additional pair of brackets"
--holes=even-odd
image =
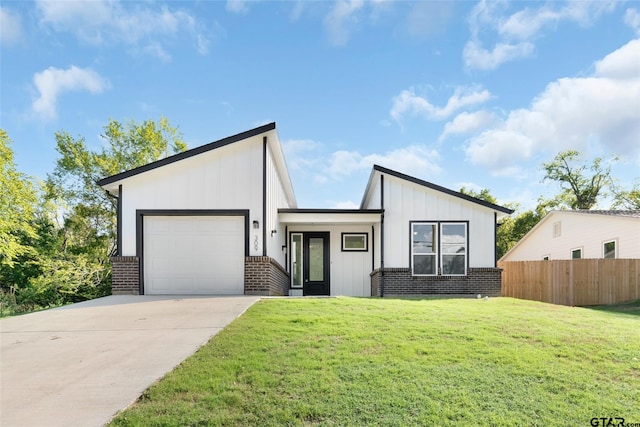
[(104, 178), (113, 292), (500, 293), (510, 209), (374, 166), (360, 209), (298, 209), (275, 123)]

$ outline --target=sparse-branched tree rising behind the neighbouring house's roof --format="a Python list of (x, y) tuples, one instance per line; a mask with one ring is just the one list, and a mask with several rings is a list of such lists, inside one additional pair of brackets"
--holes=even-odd
[(612, 185), (610, 162), (617, 160), (617, 157), (610, 161), (597, 157), (588, 166), (578, 151), (563, 151), (553, 161), (542, 164), (545, 171), (542, 181), (551, 180), (560, 185), (562, 191), (555, 198), (557, 207), (591, 209)]

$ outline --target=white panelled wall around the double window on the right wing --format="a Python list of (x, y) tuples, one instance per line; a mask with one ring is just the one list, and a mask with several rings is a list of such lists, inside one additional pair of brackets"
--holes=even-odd
[(409, 221), (469, 221), (469, 267), (495, 266), (493, 210), (389, 175), (384, 176), (384, 210), (385, 268), (411, 265)]

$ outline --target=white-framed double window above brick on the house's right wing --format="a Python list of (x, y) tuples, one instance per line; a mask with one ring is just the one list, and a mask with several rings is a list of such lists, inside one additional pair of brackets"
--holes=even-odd
[(414, 276), (467, 274), (467, 224), (411, 223), (411, 272)]

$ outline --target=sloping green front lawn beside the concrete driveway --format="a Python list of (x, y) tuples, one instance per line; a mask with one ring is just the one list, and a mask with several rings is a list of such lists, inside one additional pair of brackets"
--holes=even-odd
[(267, 299), (112, 425), (640, 423), (640, 318), (510, 298)]

